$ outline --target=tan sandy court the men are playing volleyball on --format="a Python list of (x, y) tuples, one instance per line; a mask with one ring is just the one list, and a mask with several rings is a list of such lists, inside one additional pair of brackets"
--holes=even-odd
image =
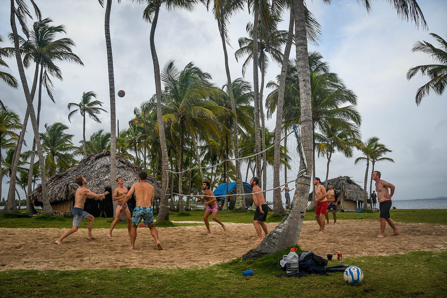
[[(138, 228), (135, 251), (128, 250), (127, 230), (95, 229), (97, 239), (87, 240), (86, 229), (68, 236), (63, 244), (54, 241), (66, 230), (0, 228), (0, 270), (9, 269), (101, 269), (123, 267), (203, 266), (238, 258), (255, 248), (252, 224), (227, 223), (227, 231), (210, 222), (211, 234), (201, 235), (204, 226), (159, 228), (163, 251), (157, 251), (148, 228)], [(269, 231), (277, 223), (267, 223)], [(447, 226), (397, 223), (401, 235), (391, 236), (387, 226), (385, 238), (378, 239), (379, 221), (339, 221), (326, 227), (324, 235), (316, 234), (316, 222), (304, 222), (299, 245), (317, 255), (344, 257), (378, 256), (411, 251), (447, 248)]]

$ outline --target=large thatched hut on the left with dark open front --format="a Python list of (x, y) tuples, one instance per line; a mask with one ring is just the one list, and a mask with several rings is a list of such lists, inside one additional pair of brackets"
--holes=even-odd
[[(139, 167), (131, 164), (123, 156), (116, 155), (116, 159), (117, 177), (122, 177), (124, 186), (130, 189), (132, 184), (138, 182), (138, 174), (141, 170)], [(105, 217), (113, 217), (114, 210), (110, 185), (110, 151), (103, 151), (99, 154), (90, 154), (82, 159), (76, 167), (69, 168), (65, 172), (56, 174), (46, 182), (50, 204), (56, 214), (64, 216), (70, 214), (75, 199), (76, 189), (79, 187), (75, 183), (75, 178), (79, 175), (84, 176), (85, 180), (87, 180), (87, 188), (93, 193), (109, 192), (104, 200), (87, 198), (84, 210), (93, 216), (104, 215)], [(155, 178), (149, 176), (147, 181), (154, 186), (155, 199), (160, 200), (160, 183), (156, 181)], [(43, 205), (42, 185), (38, 185), (30, 193), (30, 198), (34, 206)], [(129, 204), (135, 206), (135, 199), (133, 197), (129, 200)]]

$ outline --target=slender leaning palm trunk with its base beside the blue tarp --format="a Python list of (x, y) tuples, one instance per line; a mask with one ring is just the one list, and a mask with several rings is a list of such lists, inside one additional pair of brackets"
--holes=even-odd
[[(233, 145), (233, 153), (235, 164), (236, 164), (236, 193), (244, 193), (244, 187), (242, 184), (242, 175), (240, 173), (240, 160), (239, 160), (239, 147), (238, 147), (238, 139), (239, 139), (239, 133), (238, 128), (239, 124), (237, 122), (237, 113), (236, 113), (236, 103), (234, 101), (234, 94), (233, 94), (233, 85), (232, 80), (230, 76), (230, 67), (228, 66), (228, 53), (227, 53), (227, 44), (225, 41), (225, 35), (223, 34), (223, 31), (221, 30), (221, 20), (218, 17), (217, 23), (219, 27), (219, 33), (220, 33), (220, 39), (222, 40), (222, 48), (223, 48), (223, 56), (225, 60), (225, 72), (227, 74), (227, 86), (228, 86), (228, 93), (230, 94), (230, 101), (231, 101), (231, 109), (234, 113), (233, 118), (233, 134), (231, 137), (231, 143)], [(244, 210), (245, 209), (245, 196), (244, 195), (238, 195), (236, 196), (236, 203), (234, 206), (235, 210)]]

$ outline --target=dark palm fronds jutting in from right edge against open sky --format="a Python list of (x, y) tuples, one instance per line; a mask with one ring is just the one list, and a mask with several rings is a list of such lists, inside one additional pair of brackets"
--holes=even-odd
[(423, 52), (430, 55), (434, 61), (440, 64), (419, 65), (412, 67), (407, 71), (407, 79), (410, 80), (418, 72), (423, 76), (429, 76), (430, 81), (417, 89), (416, 105), (420, 105), (422, 97), (428, 96), (430, 90), (438, 95), (443, 95), (447, 85), (447, 42), (438, 34), (430, 33), (439, 43), (439, 48), (434, 47), (430, 42), (416, 42), (413, 45), (413, 52)]

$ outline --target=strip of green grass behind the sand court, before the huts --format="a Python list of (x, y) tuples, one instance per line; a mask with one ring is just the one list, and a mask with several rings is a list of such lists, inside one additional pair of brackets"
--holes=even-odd
[[(170, 212), (170, 221), (195, 221), (203, 222), (203, 211), (190, 210), (185, 215), (178, 212)], [(407, 222), (407, 223), (436, 223), (441, 225), (447, 225), (447, 209), (398, 209), (390, 210), (391, 218), (395, 222)], [(222, 222), (234, 222), (234, 223), (252, 223), (254, 212), (250, 211), (219, 211), (217, 217)], [(156, 218), (156, 216), (154, 216)], [(269, 212), (266, 222), (280, 222), (283, 216), (280, 214), (273, 214)], [(337, 212), (337, 220), (379, 220), (379, 212)], [(315, 220), (314, 211), (306, 212), (304, 220)], [(332, 214), (329, 214), (329, 220), (333, 220)], [(93, 229), (98, 228), (110, 228), (110, 223), (113, 218), (95, 218)], [(80, 228), (87, 227), (86, 220), (81, 222)], [(174, 222), (174, 227), (194, 226), (197, 223), (179, 223)], [(51, 216), (42, 214), (35, 218), (29, 217), (24, 213), (16, 214), (2, 214), (0, 216), (0, 227), (23, 227), (23, 228), (63, 228), (69, 229), (72, 227), (72, 218), (64, 218), (62, 216)], [(162, 226), (159, 226), (162, 227)], [(115, 229), (127, 229), (127, 222), (118, 222)]]

